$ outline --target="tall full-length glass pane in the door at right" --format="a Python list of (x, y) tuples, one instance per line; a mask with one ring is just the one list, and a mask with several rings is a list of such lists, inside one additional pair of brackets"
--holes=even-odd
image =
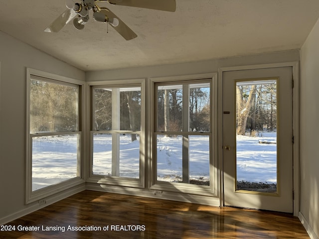
[(277, 80), (236, 83), (236, 190), (277, 192)]

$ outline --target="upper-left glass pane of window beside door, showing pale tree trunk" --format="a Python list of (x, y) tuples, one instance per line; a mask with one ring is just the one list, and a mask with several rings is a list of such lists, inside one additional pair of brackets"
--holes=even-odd
[(158, 87), (158, 131), (182, 131), (182, 86)]

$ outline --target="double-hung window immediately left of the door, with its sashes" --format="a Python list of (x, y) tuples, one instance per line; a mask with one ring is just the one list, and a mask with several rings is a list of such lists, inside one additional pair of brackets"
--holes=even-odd
[(153, 82), (151, 188), (212, 195), (217, 186), (212, 79), (159, 78)]

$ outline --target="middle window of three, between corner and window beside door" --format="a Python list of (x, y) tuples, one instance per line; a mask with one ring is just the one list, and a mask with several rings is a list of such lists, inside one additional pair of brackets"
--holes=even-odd
[(89, 182), (143, 187), (143, 96), (136, 85), (92, 86)]

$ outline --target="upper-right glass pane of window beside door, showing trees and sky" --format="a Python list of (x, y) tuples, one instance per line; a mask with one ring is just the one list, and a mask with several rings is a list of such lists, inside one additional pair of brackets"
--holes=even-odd
[(189, 131), (210, 131), (210, 84), (189, 85)]

